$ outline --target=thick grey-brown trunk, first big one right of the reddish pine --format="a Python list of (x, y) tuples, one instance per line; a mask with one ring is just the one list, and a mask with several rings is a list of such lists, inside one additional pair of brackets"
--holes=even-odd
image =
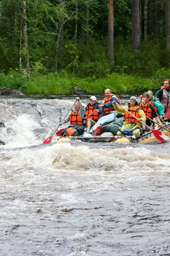
[(132, 52), (140, 49), (139, 0), (132, 0)]

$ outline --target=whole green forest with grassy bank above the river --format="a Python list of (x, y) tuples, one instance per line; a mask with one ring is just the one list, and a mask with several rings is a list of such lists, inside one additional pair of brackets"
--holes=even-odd
[(169, 60), (170, 0), (0, 0), (0, 87), (156, 90)]

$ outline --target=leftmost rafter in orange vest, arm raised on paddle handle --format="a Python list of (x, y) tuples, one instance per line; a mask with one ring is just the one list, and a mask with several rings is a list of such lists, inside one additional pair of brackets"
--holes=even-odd
[(76, 97), (76, 102), (73, 109), (68, 113), (68, 116), (62, 121), (61, 125), (70, 121), (68, 128), (61, 132), (61, 135), (79, 136), (84, 133), (83, 117), (85, 115), (85, 107), (82, 105), (79, 97)]

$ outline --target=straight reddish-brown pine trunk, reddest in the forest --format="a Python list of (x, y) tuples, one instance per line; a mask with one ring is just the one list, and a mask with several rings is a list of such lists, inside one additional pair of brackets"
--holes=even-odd
[(114, 21), (113, 21), (113, 0), (109, 1), (108, 8), (108, 56), (111, 68), (114, 66)]

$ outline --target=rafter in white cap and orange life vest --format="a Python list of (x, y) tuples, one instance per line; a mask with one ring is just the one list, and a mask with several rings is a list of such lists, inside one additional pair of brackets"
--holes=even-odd
[[(85, 107), (85, 121), (87, 126), (87, 131), (90, 131), (91, 127), (99, 120), (100, 114), (102, 113), (102, 108), (97, 103), (96, 96), (90, 97), (90, 102)], [(88, 119), (87, 119), (87, 118)]]

